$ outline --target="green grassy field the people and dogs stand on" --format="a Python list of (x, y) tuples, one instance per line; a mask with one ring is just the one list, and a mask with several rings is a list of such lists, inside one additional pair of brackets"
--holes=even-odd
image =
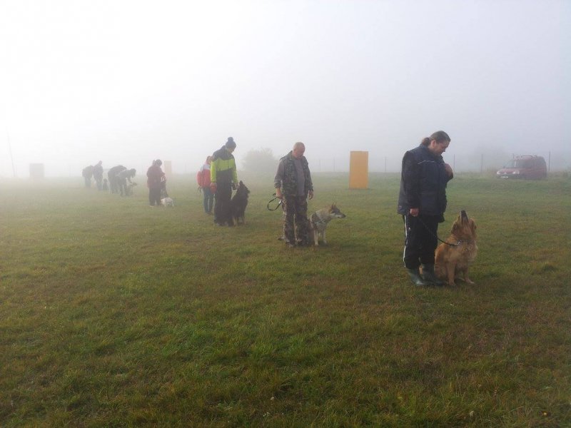
[(241, 179), (237, 228), (190, 175), (175, 208), (0, 182), (0, 426), (571, 426), (570, 178), (456, 177), (476, 285), (439, 289), (405, 275), (398, 175), (315, 174), (347, 218), (293, 249)]

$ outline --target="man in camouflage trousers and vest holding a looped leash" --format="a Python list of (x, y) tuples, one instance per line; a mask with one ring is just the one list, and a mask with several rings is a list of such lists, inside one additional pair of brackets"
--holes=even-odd
[(285, 244), (290, 247), (296, 244), (310, 245), (308, 198), (313, 199), (313, 182), (308, 160), (303, 153), (304, 144), (295, 143), (293, 150), (280, 159), (273, 180), (276, 196), (284, 201), (283, 236)]

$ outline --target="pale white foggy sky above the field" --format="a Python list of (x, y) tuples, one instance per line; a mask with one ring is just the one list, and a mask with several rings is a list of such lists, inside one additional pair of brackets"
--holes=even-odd
[(440, 129), (456, 170), (571, 166), (571, 1), (0, 3), (0, 177), (103, 161), (194, 173), (303, 141), (313, 171), (397, 171)]

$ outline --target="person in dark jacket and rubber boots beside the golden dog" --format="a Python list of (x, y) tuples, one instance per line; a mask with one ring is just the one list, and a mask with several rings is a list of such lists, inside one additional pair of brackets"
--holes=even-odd
[(444, 285), (434, 274), (434, 253), (447, 205), (446, 185), (454, 176), (442, 157), (449, 144), (448, 134), (437, 131), (403, 157), (398, 213), (405, 223), (403, 261), (415, 285)]

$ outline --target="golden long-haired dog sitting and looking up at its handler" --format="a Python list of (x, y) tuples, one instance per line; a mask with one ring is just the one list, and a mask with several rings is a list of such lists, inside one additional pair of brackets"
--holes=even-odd
[(460, 211), (452, 225), (452, 234), (436, 248), (434, 272), (441, 280), (448, 280), (448, 285), (456, 285), (458, 278), (474, 284), (468, 277), (468, 267), (477, 255), (476, 223), (468, 218), (465, 210)]

